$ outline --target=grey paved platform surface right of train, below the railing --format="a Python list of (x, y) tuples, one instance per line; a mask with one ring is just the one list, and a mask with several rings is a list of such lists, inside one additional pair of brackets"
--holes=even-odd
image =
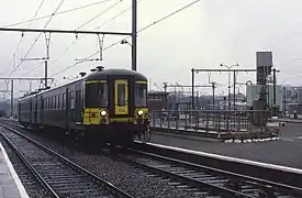
[(282, 129), (278, 141), (224, 143), (153, 133), (150, 143), (302, 169), (300, 123), (289, 123), (287, 128)]

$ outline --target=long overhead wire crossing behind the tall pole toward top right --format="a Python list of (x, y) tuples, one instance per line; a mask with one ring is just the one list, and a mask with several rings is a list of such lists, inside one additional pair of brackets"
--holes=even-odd
[[(170, 18), (170, 16), (172, 16), (172, 15), (175, 15), (175, 14), (181, 12), (181, 11), (183, 11), (184, 9), (188, 9), (188, 8), (192, 7), (193, 4), (195, 4), (195, 3), (200, 2), (200, 1), (204, 1), (204, 0), (195, 0), (195, 1), (189, 3), (189, 4), (184, 6), (184, 7), (181, 7), (180, 9), (178, 9), (178, 10), (176, 10), (176, 11), (174, 11), (174, 12), (171, 12), (171, 13), (169, 13), (169, 14), (167, 14), (167, 15), (160, 18), (160, 19), (158, 19), (157, 21), (154, 21), (153, 23), (150, 23), (150, 24), (144, 26), (143, 29), (141, 29), (139, 31), (137, 31), (137, 34), (141, 33), (141, 32), (143, 32), (143, 31), (145, 31), (145, 30), (147, 30), (147, 29), (149, 29), (149, 28), (152, 28), (152, 26), (154, 26), (155, 24), (158, 24), (159, 22), (163, 22), (163, 21), (167, 20), (168, 18)], [(123, 40), (126, 40), (126, 38), (128, 38), (128, 37), (131, 37), (131, 36), (126, 36), (126, 37), (124, 37)], [(104, 47), (103, 51), (113, 47), (114, 45), (121, 43), (121, 41), (123, 41), (123, 40), (119, 40), (119, 41), (112, 43), (111, 45)], [(98, 52), (96, 52), (96, 53), (89, 55), (88, 57), (83, 58), (82, 61), (80, 61), (80, 62), (78, 62), (78, 63), (75, 63), (75, 64), (72, 64), (72, 65), (69, 65), (68, 67), (63, 68), (61, 70), (59, 70), (59, 72), (53, 74), (51, 77), (54, 77), (54, 76), (56, 76), (56, 75), (58, 75), (58, 74), (60, 74), (60, 73), (63, 73), (63, 72), (65, 72), (65, 70), (67, 70), (67, 69), (69, 69), (69, 68), (71, 68), (71, 67), (75, 67), (75, 66), (77, 66), (79, 63), (83, 63), (85, 61), (87, 61), (87, 59), (89, 59), (89, 58), (96, 56), (96, 55), (99, 54), (99, 53), (100, 53), (100, 51), (98, 51)]]

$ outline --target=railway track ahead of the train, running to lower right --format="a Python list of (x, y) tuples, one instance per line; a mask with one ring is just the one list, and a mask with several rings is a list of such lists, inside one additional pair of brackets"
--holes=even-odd
[(221, 169), (190, 164), (132, 148), (119, 158), (143, 168), (149, 177), (163, 177), (170, 185), (201, 197), (299, 198), (302, 189)]

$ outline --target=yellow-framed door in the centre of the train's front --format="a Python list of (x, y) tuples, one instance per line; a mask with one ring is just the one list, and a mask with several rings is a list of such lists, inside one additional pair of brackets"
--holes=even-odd
[(114, 80), (114, 112), (116, 116), (128, 114), (128, 80)]

